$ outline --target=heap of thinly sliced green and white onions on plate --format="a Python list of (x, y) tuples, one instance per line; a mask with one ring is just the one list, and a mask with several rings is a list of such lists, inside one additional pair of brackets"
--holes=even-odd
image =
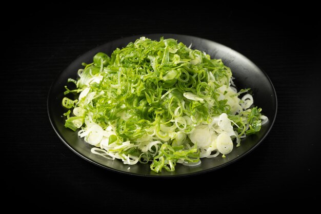
[[(109, 57), (99, 52), (72, 80), (75, 100), (65, 127), (93, 145), (91, 152), (155, 172), (200, 158), (225, 157), (267, 122), (250, 89), (237, 92), (230, 68), (172, 38), (141, 37)], [(240, 94), (245, 94), (242, 99)]]

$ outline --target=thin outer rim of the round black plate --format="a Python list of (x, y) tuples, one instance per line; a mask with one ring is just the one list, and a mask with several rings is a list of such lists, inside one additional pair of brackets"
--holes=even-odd
[[(79, 57), (87, 54), (88, 52), (91, 52), (91, 51), (94, 51), (95, 49), (99, 49), (101, 46), (104, 46), (104, 45), (107, 45), (107, 44), (110, 44), (110, 43), (117, 43), (117, 42), (120, 42), (120, 41), (123, 41), (123, 40), (129, 40), (129, 39), (133, 39), (133, 42), (141, 37), (141, 36), (145, 36), (145, 37), (155, 37), (155, 36), (158, 36), (158, 37), (161, 37), (161, 36), (164, 36), (164, 37), (170, 37), (170, 36), (175, 36), (177, 38), (177, 40), (179, 39), (179, 37), (190, 37), (190, 38), (195, 38), (197, 40), (203, 40), (203, 41), (207, 41), (207, 42), (211, 42), (211, 43), (215, 43), (216, 45), (220, 46), (221, 48), (224, 48), (224, 49), (230, 49), (231, 51), (241, 55), (242, 57), (244, 57), (244, 59), (250, 61), (253, 65), (255, 65), (260, 71), (262, 71), (262, 73), (264, 74), (264, 76), (267, 78), (271, 88), (272, 88), (272, 91), (273, 91), (273, 96), (274, 96), (274, 100), (275, 100), (275, 112), (274, 112), (274, 115), (273, 115), (273, 119), (270, 120), (269, 118), (269, 122), (271, 123), (270, 127), (267, 129), (265, 135), (259, 139), (259, 141), (254, 145), (252, 146), (249, 150), (247, 150), (246, 152), (242, 153), (241, 155), (239, 155), (238, 157), (236, 157), (235, 159), (233, 160), (230, 160), (226, 163), (223, 163), (223, 164), (220, 164), (216, 167), (212, 167), (212, 168), (209, 168), (209, 169), (204, 169), (204, 170), (201, 170), (201, 171), (196, 171), (196, 172), (190, 172), (190, 173), (184, 173), (184, 174), (164, 174), (162, 175), (162, 172), (160, 173), (157, 173), (157, 174), (142, 174), (142, 173), (135, 173), (135, 172), (130, 172), (130, 171), (122, 171), (122, 170), (117, 170), (115, 168), (112, 168), (112, 167), (108, 167), (108, 166), (105, 166), (105, 165), (102, 165), (102, 164), (99, 164), (93, 160), (91, 160), (90, 158), (86, 157), (86, 155), (83, 155), (81, 154), (80, 152), (76, 151), (71, 145), (69, 145), (68, 142), (65, 141), (65, 139), (62, 137), (61, 133), (59, 133), (57, 127), (55, 126), (55, 123), (53, 122), (53, 116), (52, 114), (50, 113), (50, 98), (51, 98), (51, 93), (52, 93), (52, 88), (54, 87), (54, 85), (56, 84), (57, 80), (59, 79), (59, 77), (67, 70), (67, 68), (74, 62), (76, 61), (77, 59), (79, 59)], [(214, 57), (214, 56), (212, 56)], [(74, 153), (76, 153), (79, 157), (83, 158), (84, 160), (96, 165), (96, 166), (99, 166), (101, 168), (104, 168), (106, 170), (109, 170), (109, 171), (112, 171), (112, 172), (116, 172), (116, 173), (119, 173), (119, 174), (127, 174), (129, 176), (138, 176), (138, 177), (149, 177), (149, 178), (178, 178), (178, 177), (190, 177), (190, 176), (196, 176), (198, 174), (203, 174), (203, 173), (207, 173), (207, 172), (210, 172), (210, 171), (215, 171), (217, 169), (220, 169), (220, 168), (223, 168), (223, 167), (226, 167), (236, 161), (238, 161), (239, 159), (242, 159), (244, 158), (247, 154), (249, 154), (250, 152), (252, 152), (256, 147), (258, 147), (264, 140), (265, 138), (268, 136), (268, 134), (270, 133), (270, 131), (272, 130), (272, 127), (275, 123), (275, 119), (276, 119), (276, 115), (277, 115), (277, 106), (278, 106), (278, 101), (277, 101), (277, 94), (276, 94), (276, 90), (275, 90), (275, 87), (270, 79), (270, 77), (268, 76), (268, 74), (265, 72), (265, 70), (263, 70), (261, 67), (259, 67), (257, 64), (255, 64), (253, 61), (251, 61), (250, 59), (248, 59), (248, 57), (246, 57), (245, 55), (243, 55), (242, 53), (239, 53), (238, 51), (232, 49), (232, 48), (229, 48), (228, 46), (225, 46), (223, 44), (220, 44), (220, 43), (217, 43), (215, 41), (212, 41), (212, 40), (208, 40), (207, 38), (202, 38), (202, 37), (197, 37), (197, 36), (191, 36), (191, 35), (185, 35), (185, 34), (175, 34), (175, 33), (152, 33), (152, 34), (138, 34), (138, 35), (132, 35), (132, 36), (125, 36), (125, 37), (120, 37), (116, 40), (111, 40), (111, 41), (108, 41), (106, 43), (103, 43), (103, 44), (100, 44), (100, 45), (97, 45), (96, 47), (94, 48), (91, 48), (89, 50), (87, 50), (86, 52), (82, 53), (82, 54), (78, 54), (78, 56), (76, 56), (73, 60), (71, 60), (71, 62), (68, 63), (67, 66), (65, 66), (61, 71), (59, 71), (59, 73), (55, 76), (54, 80), (52, 81), (51, 85), (50, 85), (50, 88), (49, 88), (49, 91), (48, 91), (48, 95), (47, 95), (47, 114), (48, 114), (48, 118), (49, 118), (49, 121), (50, 121), (50, 124), (52, 126), (52, 128), (54, 129), (55, 133), (58, 135), (58, 138), (70, 149), (72, 150)], [(130, 166), (130, 165), (128, 165)]]

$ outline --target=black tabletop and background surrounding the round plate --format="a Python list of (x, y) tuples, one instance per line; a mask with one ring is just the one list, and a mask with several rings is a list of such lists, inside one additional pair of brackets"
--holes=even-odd
[[(110, 211), (240, 211), (317, 206), (320, 59), (317, 14), (302, 10), (141, 9), (30, 11), (3, 19), (2, 163), (5, 202), (25, 208)], [(229, 8), (229, 7), (226, 7)], [(18, 16), (19, 15), (19, 16)], [(264, 69), (278, 98), (266, 140), (225, 168), (179, 179), (111, 172), (79, 158), (47, 115), (55, 77), (77, 56), (138, 34), (207, 38)], [(62, 209), (61, 209), (62, 210)], [(278, 210), (278, 209), (277, 209)]]

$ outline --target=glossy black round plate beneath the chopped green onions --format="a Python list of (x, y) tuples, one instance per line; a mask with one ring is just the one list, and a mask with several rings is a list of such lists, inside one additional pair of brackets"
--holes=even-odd
[[(76, 132), (64, 127), (65, 119), (63, 113), (66, 109), (62, 107), (62, 99), (64, 98), (64, 86), (67, 85), (68, 78), (77, 78), (77, 70), (83, 68), (82, 63), (91, 63), (92, 57), (97, 52), (105, 52), (110, 55), (116, 48), (125, 47), (129, 42), (134, 42), (140, 36), (131, 36), (115, 40), (104, 45), (98, 46), (87, 53), (79, 56), (65, 70), (63, 70), (53, 82), (47, 100), (48, 114), (50, 122), (57, 133), (58, 137), (76, 154), (85, 160), (101, 166), (103, 168), (133, 174), (136, 176), (147, 177), (177, 177), (188, 176), (212, 171), (233, 163), (244, 157), (261, 143), (272, 128), (276, 116), (277, 100), (274, 87), (267, 74), (260, 70), (254, 63), (247, 59), (244, 55), (218, 43), (187, 35), (177, 34), (149, 34), (144, 35), (152, 40), (159, 40), (159, 37), (175, 38), (178, 42), (185, 45), (192, 44), (193, 49), (205, 51), (214, 59), (222, 59), (224, 64), (232, 69), (235, 77), (235, 84), (239, 89), (252, 88), (254, 105), (263, 109), (263, 114), (268, 116), (269, 122), (262, 126), (262, 129), (255, 135), (250, 135), (244, 139), (240, 147), (234, 147), (226, 158), (219, 155), (216, 158), (202, 159), (202, 164), (194, 167), (176, 165), (176, 171), (167, 172), (163, 170), (161, 173), (155, 173), (149, 168), (149, 164), (125, 165), (121, 160), (108, 160), (99, 155), (92, 154), (91, 145), (79, 138)], [(130, 169), (128, 169), (130, 167)]]

